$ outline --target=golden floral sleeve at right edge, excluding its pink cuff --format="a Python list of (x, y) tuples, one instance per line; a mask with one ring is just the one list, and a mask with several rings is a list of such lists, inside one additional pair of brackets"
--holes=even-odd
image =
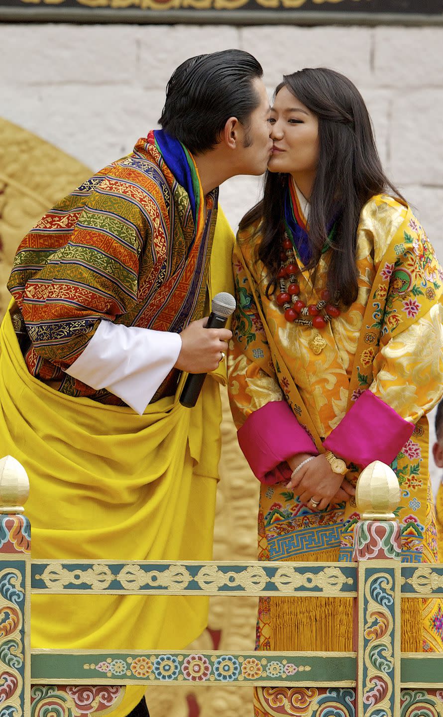
[(381, 345), (370, 390), (415, 424), (443, 393), (443, 273), (432, 244), (409, 210), (394, 237), (394, 258), (381, 262), (387, 282)]

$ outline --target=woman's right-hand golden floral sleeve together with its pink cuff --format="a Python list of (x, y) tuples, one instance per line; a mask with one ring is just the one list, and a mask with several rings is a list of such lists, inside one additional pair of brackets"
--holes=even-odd
[(394, 460), (414, 424), (443, 394), (442, 269), (411, 212), (393, 242), (394, 257), (381, 257), (385, 281), (377, 289), (369, 327), (381, 329), (380, 346), (369, 343), (359, 357), (356, 400), (324, 442), (358, 465)]

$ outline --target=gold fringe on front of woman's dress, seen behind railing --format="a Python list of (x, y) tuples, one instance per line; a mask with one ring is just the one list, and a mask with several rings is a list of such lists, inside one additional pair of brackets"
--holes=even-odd
[[(333, 548), (297, 555), (295, 560), (329, 563), (337, 559), (338, 548)], [(272, 597), (270, 602), (271, 650), (352, 650), (351, 597)]]

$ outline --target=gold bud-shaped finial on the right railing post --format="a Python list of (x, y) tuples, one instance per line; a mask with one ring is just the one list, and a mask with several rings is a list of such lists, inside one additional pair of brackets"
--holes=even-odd
[(381, 460), (370, 463), (358, 478), (356, 503), (363, 521), (392, 521), (400, 503), (399, 480)]

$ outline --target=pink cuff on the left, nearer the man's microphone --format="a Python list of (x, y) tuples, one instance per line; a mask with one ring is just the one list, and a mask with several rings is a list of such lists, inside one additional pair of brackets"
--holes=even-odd
[[(250, 414), (237, 432), (239, 446), (254, 475), (265, 475), (296, 453), (318, 454), (315, 443), (285, 401), (270, 401)], [(284, 477), (283, 477), (284, 478)], [(277, 483), (283, 478), (272, 480)]]

